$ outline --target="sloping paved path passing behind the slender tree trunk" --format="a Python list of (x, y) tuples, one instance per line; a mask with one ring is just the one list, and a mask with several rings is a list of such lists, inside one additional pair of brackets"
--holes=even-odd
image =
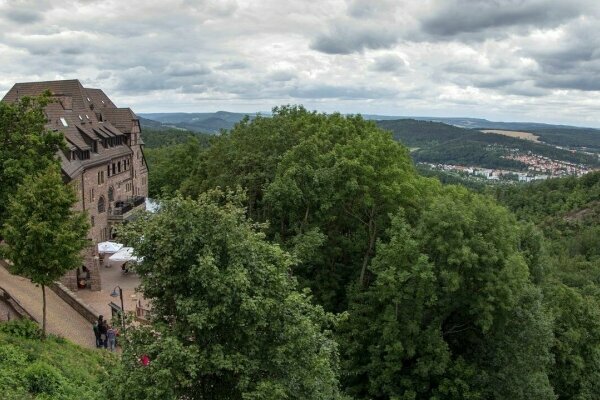
[[(29, 279), (12, 275), (0, 260), (0, 286), (21, 303), (38, 321), (42, 320), (42, 289)], [(92, 325), (52, 290), (46, 288), (48, 333), (62, 336), (84, 347), (96, 347)]]

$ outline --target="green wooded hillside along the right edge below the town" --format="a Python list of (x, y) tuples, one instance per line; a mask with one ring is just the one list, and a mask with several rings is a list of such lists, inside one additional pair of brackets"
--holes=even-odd
[[(544, 305), (553, 318), (550, 381), (560, 399), (600, 390), (600, 173), (496, 190), (520, 218), (522, 243), (544, 265)], [(532, 228), (533, 224), (537, 229)], [(537, 249), (540, 232), (542, 248)], [(544, 243), (545, 242), (545, 243)], [(539, 257), (542, 254), (542, 257)], [(544, 261), (545, 260), (545, 261)]]

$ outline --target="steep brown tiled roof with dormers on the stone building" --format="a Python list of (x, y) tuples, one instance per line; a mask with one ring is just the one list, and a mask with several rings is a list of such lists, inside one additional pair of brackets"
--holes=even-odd
[[(77, 79), (16, 83), (2, 101), (15, 102), (24, 96), (38, 96), (49, 90), (54, 102), (45, 108), (46, 128), (63, 132), (70, 150), (90, 151), (86, 160), (70, 160), (60, 154), (63, 172), (74, 178), (83, 169), (111, 158), (131, 154), (126, 144), (104, 148), (103, 139), (131, 133), (137, 116), (129, 108), (117, 108), (100, 89), (88, 89)], [(94, 142), (98, 153), (94, 153)]]

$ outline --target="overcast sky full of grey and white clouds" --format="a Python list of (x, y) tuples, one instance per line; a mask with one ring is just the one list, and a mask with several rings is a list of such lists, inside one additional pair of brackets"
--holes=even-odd
[(0, 96), (78, 78), (136, 112), (600, 127), (598, 0), (0, 0)]

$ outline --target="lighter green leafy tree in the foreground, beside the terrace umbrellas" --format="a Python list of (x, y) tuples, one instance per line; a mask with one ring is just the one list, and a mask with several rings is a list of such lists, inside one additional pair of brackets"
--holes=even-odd
[(241, 202), (176, 197), (121, 231), (144, 257), (137, 272), (153, 313), (151, 326), (128, 330), (112, 397), (339, 397), (333, 316), (296, 290), (292, 257)]

